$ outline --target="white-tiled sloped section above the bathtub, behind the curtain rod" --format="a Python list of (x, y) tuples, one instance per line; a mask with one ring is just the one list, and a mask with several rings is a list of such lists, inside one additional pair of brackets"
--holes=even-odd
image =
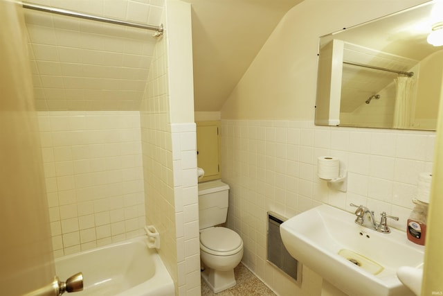
[[(45, 6), (160, 25), (163, 0)], [(156, 38), (139, 28), (25, 10), (37, 110), (139, 110)]]

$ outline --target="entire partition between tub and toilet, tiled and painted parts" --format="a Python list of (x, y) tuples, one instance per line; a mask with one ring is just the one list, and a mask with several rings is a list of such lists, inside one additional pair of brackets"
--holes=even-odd
[(166, 12), (141, 108), (146, 221), (159, 229), (176, 295), (199, 295), (190, 4), (167, 1)]

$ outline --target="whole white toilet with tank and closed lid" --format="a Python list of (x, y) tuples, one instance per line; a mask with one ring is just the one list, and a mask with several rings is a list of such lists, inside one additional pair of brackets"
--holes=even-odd
[(201, 278), (214, 293), (235, 286), (234, 268), (242, 261), (242, 238), (220, 227), (228, 215), (229, 186), (221, 180), (199, 183)]

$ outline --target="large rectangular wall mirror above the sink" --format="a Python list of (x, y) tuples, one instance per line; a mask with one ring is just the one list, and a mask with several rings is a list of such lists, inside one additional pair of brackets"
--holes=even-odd
[(428, 2), (320, 37), (316, 125), (435, 130), (443, 46), (426, 38), (441, 8)]

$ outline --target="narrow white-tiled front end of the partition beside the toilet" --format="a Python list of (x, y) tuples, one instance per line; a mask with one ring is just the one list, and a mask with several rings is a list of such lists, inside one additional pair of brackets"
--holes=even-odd
[(200, 295), (196, 126), (173, 124), (171, 129), (179, 295)]

